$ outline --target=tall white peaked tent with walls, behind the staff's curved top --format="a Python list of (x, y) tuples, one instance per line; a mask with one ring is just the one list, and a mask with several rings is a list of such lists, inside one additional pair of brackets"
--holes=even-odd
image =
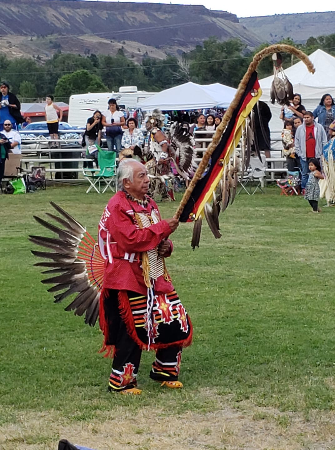
[[(323, 94), (330, 94), (335, 98), (335, 58), (323, 50), (316, 50), (309, 55), (315, 67), (315, 73), (308, 72), (306, 65), (299, 61), (291, 67), (285, 69), (287, 78), (293, 85), (294, 93), (300, 94), (302, 104), (306, 111), (313, 111), (320, 103)], [(271, 131), (282, 129), (282, 121), (279, 118), (281, 106), (270, 102), (270, 87), (273, 76), (267, 76), (259, 80), (263, 95), (261, 100), (267, 102), (272, 112), (270, 121)]]

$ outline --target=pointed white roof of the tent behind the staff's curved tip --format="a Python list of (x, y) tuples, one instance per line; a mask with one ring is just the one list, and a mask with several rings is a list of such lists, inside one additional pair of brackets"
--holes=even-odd
[[(310, 86), (313, 88), (319, 87), (326, 89), (334, 86), (335, 80), (335, 58), (323, 50), (317, 49), (308, 57), (315, 68), (315, 73), (308, 71), (305, 63), (299, 61), (291, 67), (285, 69), (287, 78), (293, 85)], [(267, 76), (259, 81), (262, 89), (270, 89), (273, 76)]]

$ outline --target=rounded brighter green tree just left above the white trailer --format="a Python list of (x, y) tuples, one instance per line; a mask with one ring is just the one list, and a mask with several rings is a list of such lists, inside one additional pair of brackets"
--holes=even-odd
[(87, 70), (77, 70), (73, 73), (63, 75), (57, 81), (54, 93), (58, 98), (69, 98), (72, 94), (83, 92), (105, 92), (107, 87), (100, 76)]

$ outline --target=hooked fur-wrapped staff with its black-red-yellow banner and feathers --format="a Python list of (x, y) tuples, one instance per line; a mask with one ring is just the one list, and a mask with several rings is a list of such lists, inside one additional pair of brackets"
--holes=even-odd
[[(251, 145), (254, 144), (258, 153), (257, 139), (254, 130), (251, 129), (253, 118), (250, 116), (254, 105), (262, 95), (256, 69), (263, 58), (272, 54), (276, 54), (275, 62), (279, 64), (279, 52), (294, 54), (306, 64), (310, 72), (315, 72), (313, 64), (306, 54), (291, 45), (270, 45), (255, 54), (175, 213), (175, 217), (181, 222), (195, 221), (191, 244), (193, 249), (199, 247), (200, 217), (206, 218), (215, 238), (221, 237), (217, 217), (220, 208), (217, 207), (217, 203), (218, 201), (222, 202), (221, 210), (224, 211), (229, 201), (233, 202), (238, 181), (237, 173), (239, 172), (242, 178), (247, 170)], [(281, 64), (280, 72), (283, 73)], [(288, 81), (287, 78), (286, 81)], [(289, 91), (289, 85), (284, 85), (283, 80), (283, 92), (286, 97), (289, 95)], [(282, 100), (284, 100), (284, 96)], [(241, 159), (239, 159), (235, 155), (235, 149), (241, 137), (242, 152)], [(208, 203), (212, 201), (212, 198), (214, 199), (213, 206), (210, 206)]]

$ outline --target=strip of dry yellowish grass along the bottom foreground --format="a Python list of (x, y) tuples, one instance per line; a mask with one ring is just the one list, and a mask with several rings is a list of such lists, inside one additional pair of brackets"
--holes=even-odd
[[(179, 416), (167, 410), (118, 406), (98, 411), (97, 418), (69, 421), (59, 412), (17, 413), (15, 423), (0, 427), (1, 450), (56, 450), (66, 438), (97, 450), (326, 450), (335, 448), (335, 413), (303, 414), (260, 408), (204, 390), (217, 409)], [(136, 401), (136, 398), (134, 398)], [(168, 405), (171, 410), (171, 405)]]

